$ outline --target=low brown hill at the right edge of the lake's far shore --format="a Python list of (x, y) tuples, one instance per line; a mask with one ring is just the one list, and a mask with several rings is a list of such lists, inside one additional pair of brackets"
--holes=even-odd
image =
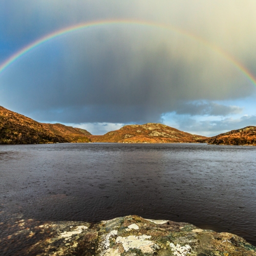
[(223, 145), (256, 145), (256, 126), (247, 126), (214, 137), (200, 140), (202, 143)]

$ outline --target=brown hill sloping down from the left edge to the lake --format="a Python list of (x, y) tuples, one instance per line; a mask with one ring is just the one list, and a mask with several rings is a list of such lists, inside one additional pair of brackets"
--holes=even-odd
[(89, 142), (86, 130), (45, 124), (0, 106), (0, 144)]

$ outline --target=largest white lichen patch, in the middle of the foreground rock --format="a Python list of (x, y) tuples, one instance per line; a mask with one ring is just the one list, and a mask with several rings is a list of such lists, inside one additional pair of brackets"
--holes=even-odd
[(154, 252), (152, 247), (158, 247), (155, 243), (153, 243), (150, 240), (151, 236), (146, 236), (143, 234), (142, 236), (129, 236), (129, 237), (117, 237), (116, 242), (121, 243), (123, 246), (123, 249), (125, 251), (128, 251), (130, 248), (132, 249), (140, 249), (142, 252)]

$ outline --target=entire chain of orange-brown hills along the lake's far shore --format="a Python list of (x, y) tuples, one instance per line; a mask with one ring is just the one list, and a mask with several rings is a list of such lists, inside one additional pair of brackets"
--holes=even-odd
[(179, 131), (161, 123), (125, 125), (104, 135), (60, 123), (39, 123), (0, 106), (0, 144), (38, 144), (62, 142), (118, 143), (208, 143), (218, 145), (255, 145), (256, 126), (247, 126), (213, 137)]

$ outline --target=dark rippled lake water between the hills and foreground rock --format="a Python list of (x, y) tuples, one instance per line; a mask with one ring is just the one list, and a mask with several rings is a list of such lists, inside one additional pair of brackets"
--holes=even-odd
[(126, 215), (189, 222), (256, 245), (256, 147), (0, 145), (0, 238), (16, 217), (95, 222)]

